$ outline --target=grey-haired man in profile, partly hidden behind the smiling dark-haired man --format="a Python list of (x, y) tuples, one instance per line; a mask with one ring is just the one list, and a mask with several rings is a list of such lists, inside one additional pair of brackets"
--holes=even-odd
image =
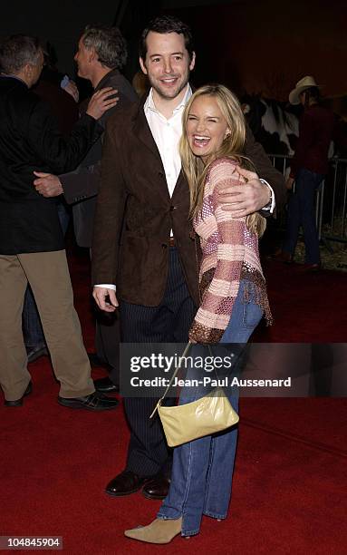
[[(129, 81), (120, 73), (120, 68), (127, 59), (127, 46), (117, 27), (88, 25), (79, 40), (74, 59), (78, 75), (88, 79), (94, 91), (109, 86), (117, 89), (120, 100), (117, 106), (101, 117), (99, 123), (103, 128), (112, 112), (138, 100)], [(81, 108), (83, 112), (83, 106)], [(96, 195), (100, 181), (101, 143), (102, 137), (92, 145), (76, 170), (59, 177), (43, 174), (34, 181), (43, 196), (53, 197), (63, 193), (65, 200), (72, 204), (74, 232), (80, 247), (92, 247)], [(119, 316), (105, 315), (99, 311), (96, 321), (96, 353), (99, 360), (111, 367), (110, 377), (103, 377), (94, 382), (96, 389), (103, 393), (118, 389), (119, 343)]]

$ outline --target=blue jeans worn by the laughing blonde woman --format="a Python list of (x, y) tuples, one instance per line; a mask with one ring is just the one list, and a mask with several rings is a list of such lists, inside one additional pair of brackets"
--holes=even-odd
[[(263, 316), (263, 310), (254, 303), (244, 303), (244, 284), (241, 282), (236, 302), (233, 307), (227, 330), (221, 343), (245, 344)], [(237, 365), (242, 360), (242, 346), (217, 346), (225, 354), (230, 351), (235, 355), (235, 365), (230, 369), (218, 369), (218, 377), (232, 372), (235, 375)], [(204, 351), (205, 349), (205, 351)], [(190, 355), (206, 354), (206, 347), (193, 346)], [(217, 353), (220, 355), (220, 353)], [(188, 378), (201, 378), (202, 370), (191, 367)], [(204, 394), (201, 387), (182, 389), (179, 404), (195, 401)], [(233, 408), (238, 411), (238, 392), (236, 388), (226, 390)], [(198, 534), (202, 515), (215, 519), (225, 519), (231, 496), (231, 485), (236, 453), (236, 426), (225, 432), (201, 437), (193, 442), (179, 445), (174, 450), (173, 466), (169, 494), (163, 501), (159, 519), (178, 519), (182, 516), (182, 536)]]

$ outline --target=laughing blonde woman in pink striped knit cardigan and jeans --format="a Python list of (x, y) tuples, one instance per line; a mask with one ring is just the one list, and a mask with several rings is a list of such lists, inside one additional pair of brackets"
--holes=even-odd
[[(246, 343), (265, 315), (271, 322), (258, 238), (265, 219), (258, 213), (232, 218), (218, 202), (226, 184), (246, 182), (253, 170), (243, 156), (246, 126), (236, 96), (226, 87), (198, 89), (183, 114), (179, 148), (190, 190), (190, 216), (199, 236), (201, 306), (189, 331), (193, 343)], [(249, 172), (249, 173), (248, 173)], [(254, 173), (252, 172), (252, 176)], [(194, 346), (196, 355), (202, 346)], [(237, 358), (237, 357), (236, 357)], [(196, 377), (195, 368), (188, 377)], [(206, 392), (187, 387), (180, 404)], [(237, 410), (237, 394), (228, 392)], [(203, 515), (227, 517), (236, 452), (236, 428), (185, 443), (174, 451), (172, 478), (158, 518), (125, 535), (151, 543), (168, 543), (179, 533), (198, 533)]]

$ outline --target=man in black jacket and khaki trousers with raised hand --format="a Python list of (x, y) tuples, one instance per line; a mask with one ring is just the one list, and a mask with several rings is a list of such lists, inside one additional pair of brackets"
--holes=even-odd
[(32, 389), (21, 320), (29, 282), (61, 382), (58, 402), (111, 409), (117, 401), (95, 394), (92, 383), (56, 204), (35, 190), (33, 172), (75, 168), (101, 136), (96, 120), (115, 105), (116, 99), (108, 98), (114, 91), (95, 93), (70, 138), (63, 140), (47, 104), (30, 91), (43, 67), (37, 39), (6, 38), (0, 45), (0, 66), (0, 384), (5, 405), (23, 404)]

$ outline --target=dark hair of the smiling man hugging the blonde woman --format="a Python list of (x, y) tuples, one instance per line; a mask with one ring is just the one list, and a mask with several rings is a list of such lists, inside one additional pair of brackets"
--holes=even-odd
[(152, 19), (147, 27), (143, 30), (140, 38), (140, 57), (144, 61), (147, 54), (147, 35), (150, 31), (153, 33), (167, 34), (167, 33), (177, 33), (183, 34), (184, 43), (188, 50), (190, 60), (193, 57), (194, 45), (193, 36), (191, 34), (190, 27), (188, 24), (184, 24), (182, 21), (175, 17), (174, 15), (159, 15)]

